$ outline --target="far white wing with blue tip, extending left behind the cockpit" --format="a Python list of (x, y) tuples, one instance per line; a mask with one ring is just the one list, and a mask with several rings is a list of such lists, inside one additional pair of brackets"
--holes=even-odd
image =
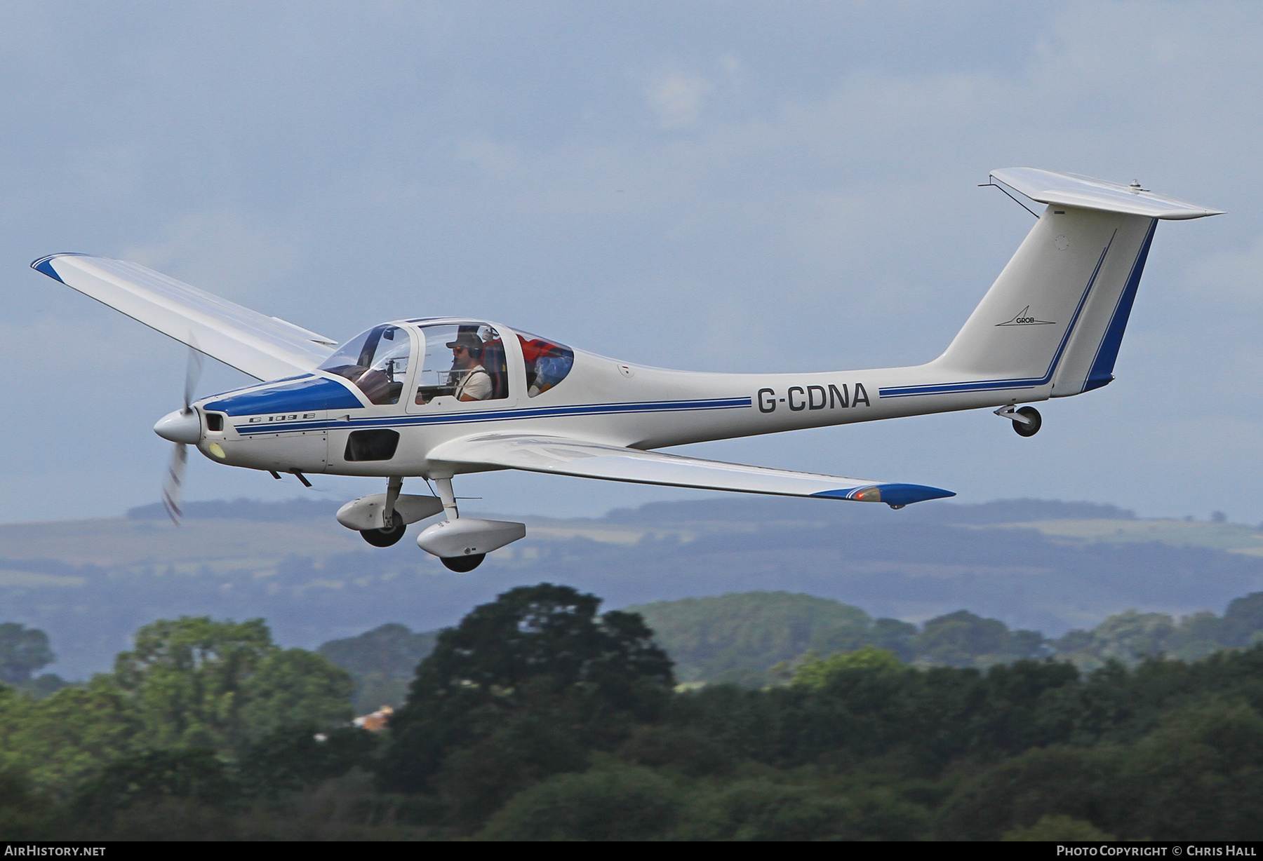
[(259, 380), (309, 371), (336, 343), (125, 260), (53, 254), (30, 268)]

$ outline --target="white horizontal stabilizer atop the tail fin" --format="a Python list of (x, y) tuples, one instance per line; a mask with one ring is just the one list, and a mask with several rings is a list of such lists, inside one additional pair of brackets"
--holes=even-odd
[(1138, 184), (1122, 186), (1077, 173), (1057, 173), (1039, 168), (1000, 168), (991, 170), (991, 175), (1041, 203), (1168, 220), (1223, 215), (1220, 210), (1207, 210), (1173, 197), (1154, 194)]

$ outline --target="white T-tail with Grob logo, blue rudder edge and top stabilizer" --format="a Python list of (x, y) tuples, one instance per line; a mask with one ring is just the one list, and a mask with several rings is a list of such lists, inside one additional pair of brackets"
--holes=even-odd
[(935, 364), (967, 390), (1048, 386), (1062, 398), (1108, 384), (1158, 220), (1219, 212), (1138, 184), (1033, 168), (991, 175), (1048, 207)]

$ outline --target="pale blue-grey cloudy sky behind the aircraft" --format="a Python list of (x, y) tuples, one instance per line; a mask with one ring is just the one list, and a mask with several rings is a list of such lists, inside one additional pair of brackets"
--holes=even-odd
[[(485, 317), (632, 362), (937, 356), (1031, 229), (1031, 165), (1228, 213), (1159, 225), (1116, 381), (1041, 405), (674, 449), (1263, 520), (1263, 6), (0, 4), (0, 521), (158, 499), (186, 350), (30, 270), (135, 260), (342, 341)], [(248, 383), (213, 362), (200, 395)], [(195, 454), (187, 499), (344, 500)], [(490, 511), (698, 491), (523, 473)], [(892, 516), (897, 513), (892, 513)]]

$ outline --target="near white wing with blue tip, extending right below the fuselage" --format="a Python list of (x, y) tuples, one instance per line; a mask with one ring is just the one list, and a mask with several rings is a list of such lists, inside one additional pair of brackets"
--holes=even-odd
[(438, 446), (429, 453), (429, 460), (643, 485), (887, 502), (899, 508), (909, 502), (956, 495), (950, 490), (925, 485), (769, 470), (762, 466), (642, 452), (563, 437), (519, 434), (466, 437)]

